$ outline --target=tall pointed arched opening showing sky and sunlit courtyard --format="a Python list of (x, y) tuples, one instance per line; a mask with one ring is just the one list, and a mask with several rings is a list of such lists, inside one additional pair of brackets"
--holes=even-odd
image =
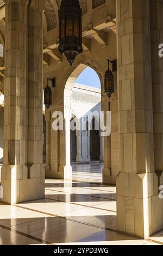
[[(68, 78), (64, 92), (66, 162), (70, 166), (70, 169), (67, 168), (67, 172), (71, 172), (71, 167), (72, 174), (76, 170), (93, 173), (96, 169), (95, 173), (99, 174), (98, 179), (102, 182), (101, 111), (101, 81), (99, 76), (94, 69), (80, 64)], [(74, 124), (76, 124), (76, 129), (72, 129)], [(70, 127), (70, 131), (67, 127)], [(73, 179), (74, 177), (77, 178), (76, 174), (73, 175)], [(97, 179), (96, 175), (95, 179)]]

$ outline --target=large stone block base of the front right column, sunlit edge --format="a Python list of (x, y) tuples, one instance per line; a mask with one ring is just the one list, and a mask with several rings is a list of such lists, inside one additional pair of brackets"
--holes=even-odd
[(117, 176), (117, 230), (146, 239), (163, 229), (163, 200), (155, 173)]

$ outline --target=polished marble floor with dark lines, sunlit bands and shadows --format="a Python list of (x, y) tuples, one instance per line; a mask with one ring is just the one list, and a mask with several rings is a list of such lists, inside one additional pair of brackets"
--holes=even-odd
[(102, 185), (102, 164), (73, 164), (73, 181), (47, 179), (45, 199), (0, 203), (0, 245), (163, 245), (117, 233), (116, 187)]

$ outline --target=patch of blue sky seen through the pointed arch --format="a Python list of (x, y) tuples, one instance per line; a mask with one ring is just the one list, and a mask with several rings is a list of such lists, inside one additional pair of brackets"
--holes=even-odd
[(95, 70), (87, 67), (77, 78), (76, 83), (101, 88), (101, 82)]

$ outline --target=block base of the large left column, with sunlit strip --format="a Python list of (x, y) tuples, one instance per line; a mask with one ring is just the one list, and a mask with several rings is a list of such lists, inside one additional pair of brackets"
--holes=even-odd
[[(34, 166), (32, 169), (34, 170)], [(1, 198), (1, 202), (17, 204), (45, 197), (43, 166), (41, 169), (36, 170), (34, 178), (28, 179), (28, 173), (28, 167), (25, 164), (2, 166), (1, 186), (3, 187), (3, 198)]]

